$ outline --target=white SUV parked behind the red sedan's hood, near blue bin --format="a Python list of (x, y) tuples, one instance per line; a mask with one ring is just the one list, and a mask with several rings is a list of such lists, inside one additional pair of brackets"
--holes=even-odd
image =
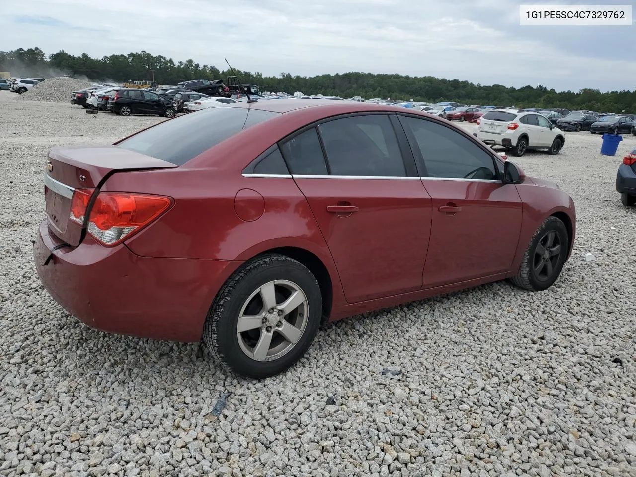
[(474, 135), (486, 144), (504, 146), (515, 156), (527, 149), (548, 149), (558, 154), (565, 144), (565, 134), (545, 116), (518, 109), (495, 109), (477, 120)]

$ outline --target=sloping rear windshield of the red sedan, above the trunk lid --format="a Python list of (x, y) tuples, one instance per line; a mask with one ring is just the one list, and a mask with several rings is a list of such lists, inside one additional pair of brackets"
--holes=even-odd
[[(121, 141), (117, 146), (174, 165), (183, 165), (242, 129), (275, 118), (279, 114), (245, 107), (210, 107), (159, 123)], [(185, 139), (175, 141), (175, 137)]]

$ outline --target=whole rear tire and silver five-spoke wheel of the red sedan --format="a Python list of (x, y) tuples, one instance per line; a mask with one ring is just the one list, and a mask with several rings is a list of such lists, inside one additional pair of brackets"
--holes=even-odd
[[(287, 293), (300, 292), (298, 296), (304, 301), (291, 308), (289, 314), (283, 314), (282, 319), (276, 312), (267, 314), (260, 290), (270, 286), (275, 290), (274, 307), (287, 300)], [(254, 316), (263, 312), (263, 319), (251, 323), (244, 320), (253, 328), (238, 331), (241, 314)], [(296, 260), (268, 254), (245, 263), (221, 287), (205, 319), (203, 340), (226, 370), (243, 377), (266, 378), (282, 373), (303, 357), (314, 340), (321, 317), (322, 295), (314, 275)], [(262, 320), (268, 319), (263, 323)], [(294, 330), (295, 343), (278, 331), (286, 326)], [(272, 341), (255, 357), (263, 336), (270, 336)]]

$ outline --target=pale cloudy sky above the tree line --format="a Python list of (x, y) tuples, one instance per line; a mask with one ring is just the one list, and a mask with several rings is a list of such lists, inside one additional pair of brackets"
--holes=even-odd
[[(535, 0), (631, 4), (636, 0)], [(636, 22), (519, 25), (511, 0), (29, 0), (5, 2), (0, 50), (141, 52), (224, 69), (364, 71), (556, 91), (636, 89)]]

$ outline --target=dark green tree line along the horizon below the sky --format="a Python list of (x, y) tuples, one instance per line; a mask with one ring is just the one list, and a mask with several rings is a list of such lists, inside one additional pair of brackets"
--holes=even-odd
[[(13, 76), (50, 78), (69, 74), (74, 78), (92, 81), (149, 81), (154, 78), (159, 85), (176, 85), (188, 79), (224, 79), (232, 74), (228, 69), (199, 64), (194, 60), (177, 61), (163, 55), (148, 52), (114, 54), (102, 58), (87, 53), (71, 55), (63, 50), (46, 55), (40, 48), (18, 48), (0, 52), (0, 71)], [(636, 114), (636, 88), (633, 91), (600, 92), (583, 89), (578, 92), (556, 92), (546, 86), (512, 88), (503, 85), (480, 85), (459, 79), (441, 79), (433, 76), (408, 76), (403, 74), (339, 73), (317, 76), (299, 76), (280, 73), (279, 76), (263, 76), (262, 73), (235, 69), (244, 83), (259, 85), (263, 91), (296, 91), (305, 94), (361, 96), (415, 101), (456, 101), (462, 104), (516, 107), (563, 107)]]

